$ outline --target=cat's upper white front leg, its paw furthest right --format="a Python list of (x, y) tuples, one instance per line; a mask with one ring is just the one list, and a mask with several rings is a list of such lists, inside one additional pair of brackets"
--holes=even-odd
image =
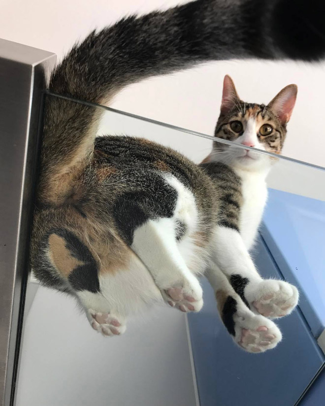
[(291, 313), (297, 305), (299, 295), (295, 286), (282, 280), (261, 278), (236, 230), (216, 227), (212, 256), (236, 293), (254, 312), (277, 318)]

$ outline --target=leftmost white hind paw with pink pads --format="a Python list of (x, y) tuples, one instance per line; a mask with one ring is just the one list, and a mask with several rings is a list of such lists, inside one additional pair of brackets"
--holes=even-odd
[(100, 313), (89, 309), (89, 321), (94, 330), (103, 336), (120, 336), (126, 331), (125, 322), (111, 313)]

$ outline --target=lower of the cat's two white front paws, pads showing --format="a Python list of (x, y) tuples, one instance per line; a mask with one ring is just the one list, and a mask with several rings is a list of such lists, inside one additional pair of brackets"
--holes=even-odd
[(258, 353), (274, 348), (282, 339), (279, 328), (273, 321), (253, 312), (236, 313), (235, 342), (248, 352)]

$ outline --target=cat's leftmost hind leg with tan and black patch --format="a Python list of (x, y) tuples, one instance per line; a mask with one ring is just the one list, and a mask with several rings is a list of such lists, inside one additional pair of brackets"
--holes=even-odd
[[(120, 335), (126, 330), (128, 298), (116, 298), (107, 289), (107, 276), (102, 274), (88, 247), (71, 231), (55, 229), (43, 239), (42, 264), (47, 285), (57, 281), (60, 290), (69, 292), (82, 305), (91, 326), (104, 336)], [(111, 276), (111, 275), (109, 275)], [(116, 292), (116, 289), (115, 289)], [(124, 301), (123, 301), (124, 300)]]

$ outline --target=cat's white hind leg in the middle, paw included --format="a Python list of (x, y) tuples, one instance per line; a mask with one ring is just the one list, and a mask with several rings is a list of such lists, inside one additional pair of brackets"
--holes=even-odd
[(131, 248), (151, 272), (163, 299), (181, 311), (199, 311), (202, 288), (181, 256), (175, 219), (150, 219), (138, 227)]

